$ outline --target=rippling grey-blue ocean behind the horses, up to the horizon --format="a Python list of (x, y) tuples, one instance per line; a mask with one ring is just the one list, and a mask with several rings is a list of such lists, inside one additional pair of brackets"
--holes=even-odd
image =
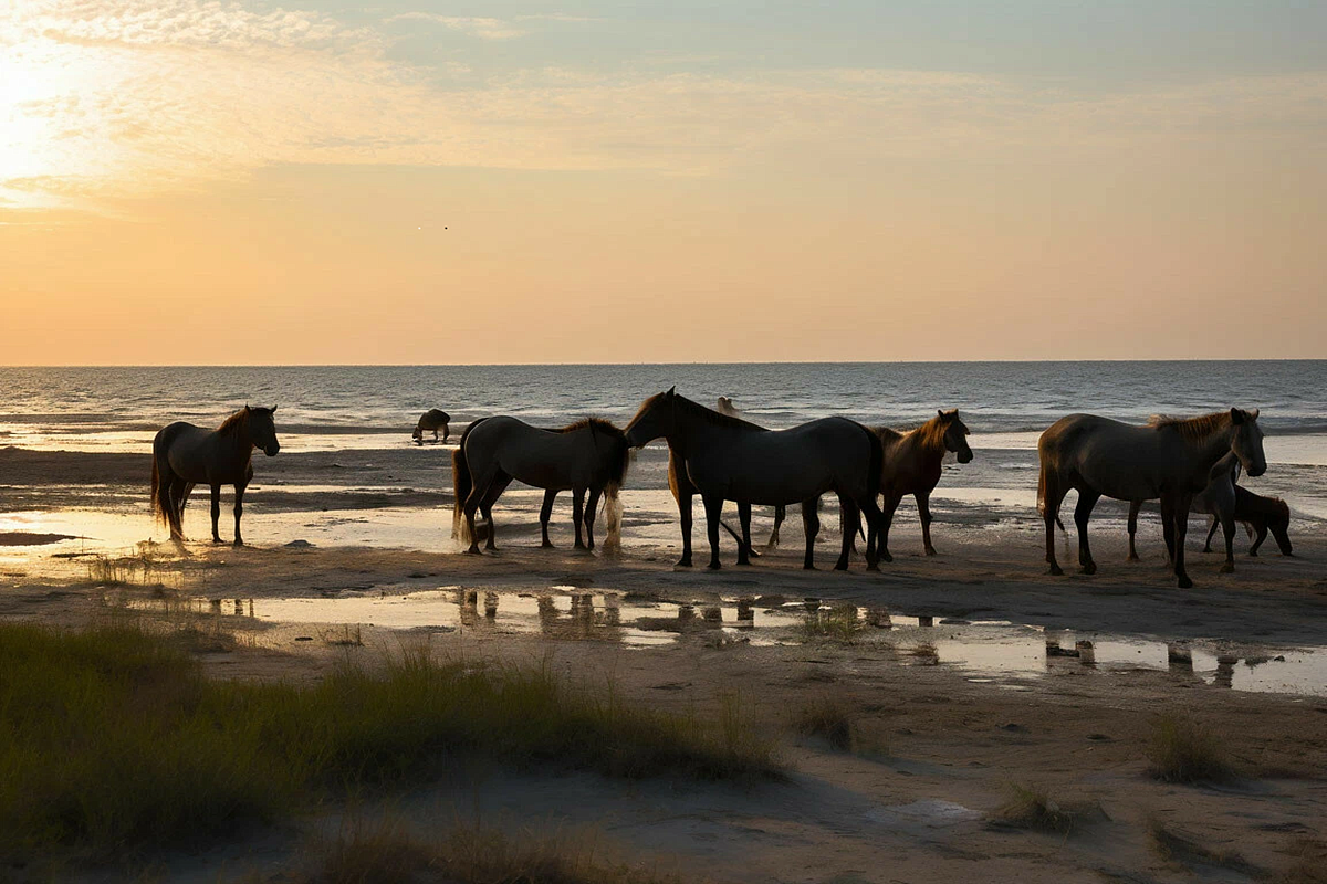
[(951, 465), (937, 493), (1010, 508), (1031, 500), (1036, 436), (1066, 414), (1141, 423), (1257, 407), (1273, 467), (1246, 484), (1327, 518), (1327, 360), (8, 367), (0, 445), (149, 451), (171, 420), (215, 424), (252, 403), (279, 406), (284, 451), (399, 448), (427, 408), (450, 412), (458, 432), (494, 414), (625, 423), (674, 384), (705, 404), (730, 396), (772, 428), (824, 415), (909, 427), (957, 407), (978, 459)]

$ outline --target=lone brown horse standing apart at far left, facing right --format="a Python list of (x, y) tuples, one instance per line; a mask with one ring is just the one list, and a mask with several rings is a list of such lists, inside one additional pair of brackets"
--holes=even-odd
[(207, 484), (212, 486), (212, 542), (220, 543), (216, 522), (222, 516), (222, 485), (234, 485), (235, 546), (244, 546), (240, 514), (244, 489), (253, 478), (253, 449), (261, 448), (268, 457), (281, 451), (275, 414), (276, 406), (244, 406), (215, 431), (176, 421), (157, 433), (153, 439), (153, 513), (170, 527), (173, 541), (184, 539), (184, 504), (194, 485)]

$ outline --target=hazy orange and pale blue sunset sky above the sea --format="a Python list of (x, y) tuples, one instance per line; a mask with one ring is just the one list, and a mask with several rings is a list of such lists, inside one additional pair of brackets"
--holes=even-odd
[(3, 0), (0, 363), (1327, 357), (1312, 0)]

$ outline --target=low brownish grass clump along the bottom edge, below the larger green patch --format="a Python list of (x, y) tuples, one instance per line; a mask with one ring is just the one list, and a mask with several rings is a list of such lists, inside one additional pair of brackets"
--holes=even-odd
[(411, 836), (393, 822), (350, 826), (313, 851), (296, 884), (675, 884), (640, 867), (596, 857), (592, 838), (524, 836), (462, 827), (438, 839)]

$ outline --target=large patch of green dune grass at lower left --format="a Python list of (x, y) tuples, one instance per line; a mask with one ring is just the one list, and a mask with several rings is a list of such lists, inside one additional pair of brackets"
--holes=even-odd
[(729, 705), (717, 720), (669, 716), (547, 668), (474, 671), (426, 651), (309, 685), (220, 681), (133, 624), (0, 624), (0, 857), (178, 846), (474, 758), (778, 775), (772, 744)]

